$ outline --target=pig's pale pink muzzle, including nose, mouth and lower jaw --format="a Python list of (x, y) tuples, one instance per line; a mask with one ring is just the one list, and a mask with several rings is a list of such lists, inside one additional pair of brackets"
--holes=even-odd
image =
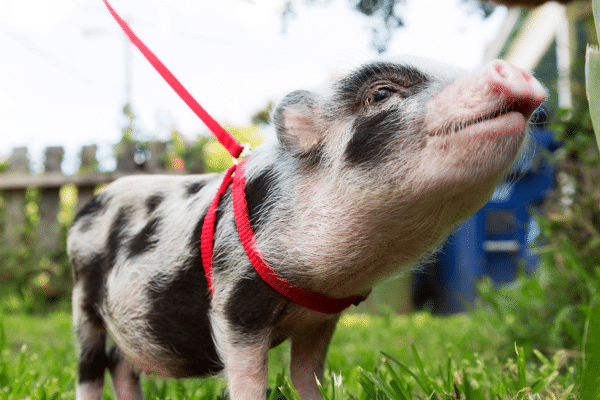
[(529, 118), (545, 98), (531, 74), (500, 60), (449, 83), (427, 104), (428, 140), (415, 176), (438, 195), (478, 193), (467, 207), (476, 211), (517, 158)]

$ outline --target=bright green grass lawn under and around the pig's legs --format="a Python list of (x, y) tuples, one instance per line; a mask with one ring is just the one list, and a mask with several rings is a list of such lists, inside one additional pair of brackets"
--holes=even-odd
[[(8, 313), (1, 326), (0, 400), (73, 399), (69, 313)], [(272, 399), (296, 398), (288, 362), (288, 343), (271, 351)], [(348, 314), (334, 336), (322, 390), (326, 399), (570, 399), (577, 398), (579, 364), (565, 351), (526, 354), (468, 313)], [(106, 386), (104, 399), (113, 399), (110, 379)], [(224, 388), (219, 379), (143, 379), (152, 400), (221, 399)]]

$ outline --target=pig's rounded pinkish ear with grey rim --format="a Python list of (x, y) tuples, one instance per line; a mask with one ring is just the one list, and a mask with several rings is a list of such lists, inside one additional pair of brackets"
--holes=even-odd
[(321, 140), (315, 104), (313, 93), (299, 90), (285, 96), (273, 113), (279, 143), (295, 157), (310, 152)]

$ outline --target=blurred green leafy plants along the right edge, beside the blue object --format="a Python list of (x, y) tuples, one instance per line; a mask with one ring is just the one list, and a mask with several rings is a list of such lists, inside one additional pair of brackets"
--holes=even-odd
[(557, 168), (557, 188), (536, 217), (542, 265), (509, 286), (496, 288), (483, 281), (483, 307), (475, 315), (528, 354), (539, 349), (547, 357), (564, 349), (559, 351), (586, 377), (577, 383), (585, 388), (584, 382), (597, 384), (600, 376), (589, 357), (597, 351), (594, 338), (600, 335), (600, 312), (595, 311), (600, 304), (600, 156), (581, 87), (581, 57), (572, 71), (573, 107), (558, 110), (550, 127), (561, 142), (548, 155)]

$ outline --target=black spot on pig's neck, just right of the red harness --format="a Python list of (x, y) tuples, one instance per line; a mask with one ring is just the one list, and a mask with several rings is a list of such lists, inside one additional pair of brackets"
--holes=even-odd
[(264, 169), (261, 173), (246, 182), (246, 202), (248, 203), (248, 216), (250, 225), (255, 234), (261, 229), (269, 212), (269, 204), (277, 196), (277, 175), (271, 168)]

